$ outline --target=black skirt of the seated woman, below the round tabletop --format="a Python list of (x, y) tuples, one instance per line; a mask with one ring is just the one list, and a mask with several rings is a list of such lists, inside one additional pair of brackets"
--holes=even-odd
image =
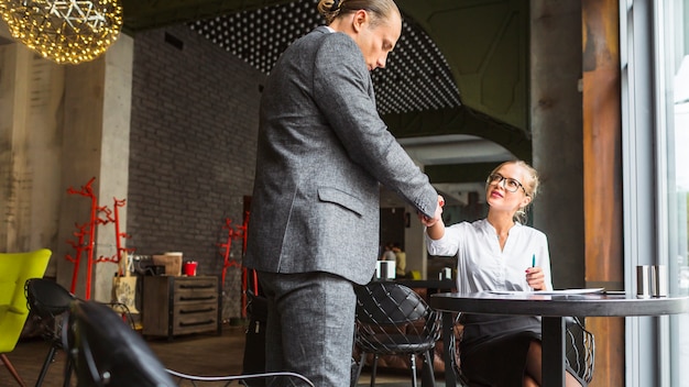
[[(463, 314), (460, 367), (469, 386), (522, 386), (531, 342), (540, 341), (540, 319)], [(582, 386), (587, 386), (567, 367)]]

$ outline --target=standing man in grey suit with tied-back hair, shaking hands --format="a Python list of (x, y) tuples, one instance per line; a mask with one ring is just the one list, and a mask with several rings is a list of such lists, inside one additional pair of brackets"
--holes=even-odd
[(294, 42), (261, 101), (244, 265), (269, 300), (266, 371), (349, 386), (356, 296), (371, 280), (379, 183), (439, 219), (438, 195), (378, 114), (370, 71), (402, 31), (392, 0), (320, 0), (327, 26)]

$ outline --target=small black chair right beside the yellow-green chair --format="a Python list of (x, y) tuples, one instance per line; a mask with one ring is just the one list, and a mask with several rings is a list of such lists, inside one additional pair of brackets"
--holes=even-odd
[(39, 318), (41, 335), (51, 344), (36, 380), (36, 387), (39, 387), (43, 385), (47, 368), (55, 358), (55, 352), (62, 349), (62, 319), (64, 313), (69, 310), (69, 303), (75, 297), (54, 280), (44, 278), (26, 280), (24, 294), (29, 310)]

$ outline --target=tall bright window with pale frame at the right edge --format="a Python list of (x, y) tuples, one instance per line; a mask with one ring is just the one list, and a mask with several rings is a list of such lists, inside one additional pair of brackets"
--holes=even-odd
[[(620, 1), (625, 283), (668, 265), (689, 295), (689, 0)], [(625, 320), (627, 386), (689, 385), (689, 317)]]

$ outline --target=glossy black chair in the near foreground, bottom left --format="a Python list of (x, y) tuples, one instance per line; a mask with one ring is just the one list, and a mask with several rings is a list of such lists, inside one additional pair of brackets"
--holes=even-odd
[[(294, 386), (310, 386), (306, 377), (294, 373), (265, 373), (236, 376), (196, 376), (165, 369), (163, 364), (134, 330), (111, 308), (75, 300), (70, 305), (67, 324), (63, 329), (63, 345), (67, 349), (79, 387), (165, 387), (179, 382), (247, 380), (252, 378), (288, 377)], [(65, 383), (72, 371), (66, 369)]]

